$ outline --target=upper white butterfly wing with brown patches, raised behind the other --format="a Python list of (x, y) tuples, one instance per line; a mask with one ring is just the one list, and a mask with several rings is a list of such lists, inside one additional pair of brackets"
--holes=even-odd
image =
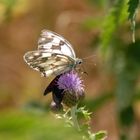
[(72, 45), (62, 36), (49, 30), (43, 30), (38, 40), (38, 50), (59, 53), (76, 58)]

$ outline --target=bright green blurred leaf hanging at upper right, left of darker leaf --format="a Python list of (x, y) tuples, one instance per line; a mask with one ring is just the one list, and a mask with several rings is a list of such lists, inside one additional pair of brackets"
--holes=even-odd
[(118, 27), (127, 19), (127, 0), (118, 0), (104, 20), (101, 49), (106, 52)]

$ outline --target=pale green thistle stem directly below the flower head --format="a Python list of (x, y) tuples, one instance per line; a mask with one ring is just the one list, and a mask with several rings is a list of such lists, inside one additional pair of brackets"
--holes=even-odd
[(71, 108), (71, 117), (72, 117), (72, 121), (73, 121), (73, 125), (74, 127), (80, 131), (80, 127), (79, 127), (79, 123), (78, 123), (78, 120), (77, 120), (77, 115), (76, 115), (76, 110), (77, 110), (77, 105), (73, 106)]

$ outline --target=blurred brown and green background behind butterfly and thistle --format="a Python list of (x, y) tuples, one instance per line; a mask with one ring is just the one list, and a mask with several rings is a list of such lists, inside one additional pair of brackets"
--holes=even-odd
[(140, 139), (139, 14), (136, 21), (133, 43), (127, 0), (0, 0), (0, 139), (80, 139), (50, 113), (52, 97), (43, 92), (54, 77), (23, 61), (42, 29), (64, 36), (84, 60), (83, 105), (93, 112), (93, 132)]

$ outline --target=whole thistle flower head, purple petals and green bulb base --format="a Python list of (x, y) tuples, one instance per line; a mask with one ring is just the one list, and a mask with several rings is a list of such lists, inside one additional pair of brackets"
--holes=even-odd
[(62, 102), (68, 106), (75, 106), (84, 97), (83, 81), (75, 71), (62, 74), (58, 81), (58, 88), (63, 90)]

